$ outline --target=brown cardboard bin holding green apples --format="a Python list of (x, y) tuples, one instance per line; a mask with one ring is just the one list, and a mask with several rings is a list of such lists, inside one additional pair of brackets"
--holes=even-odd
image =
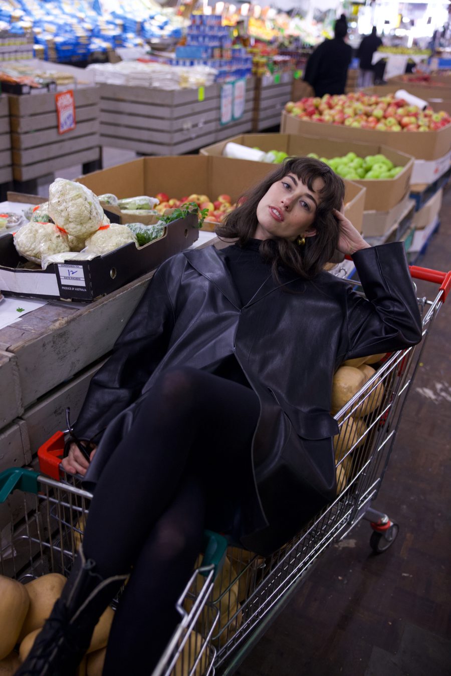
[[(414, 160), (410, 155), (400, 153), (384, 145), (376, 145), (371, 143), (356, 143), (350, 141), (336, 141), (335, 139), (325, 139), (323, 137), (309, 137), (289, 134), (243, 134), (236, 136), (214, 145), (208, 145), (201, 148), (200, 153), (203, 155), (214, 155), (221, 157), (229, 141), (246, 145), (253, 148), (258, 147), (264, 152), (270, 150), (279, 150), (288, 155), (308, 155), (308, 153), (316, 153), (320, 157), (333, 158), (346, 155), (346, 153), (354, 152), (359, 157), (366, 157), (366, 155), (376, 155), (382, 153), (395, 166), (403, 166), (404, 169), (396, 178), (384, 179), (369, 179), (354, 180), (353, 183), (358, 183), (363, 188), (366, 188), (365, 193), (365, 211), (388, 211), (394, 208), (408, 193), (410, 186), (410, 175), (412, 174)], [(239, 160), (239, 162), (243, 160)], [(244, 160), (245, 161), (245, 160)], [(273, 166), (273, 165), (269, 165)]]

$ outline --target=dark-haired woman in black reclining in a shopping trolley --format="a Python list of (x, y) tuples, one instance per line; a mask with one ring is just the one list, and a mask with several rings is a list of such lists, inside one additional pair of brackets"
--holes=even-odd
[[(204, 529), (268, 555), (336, 495), (333, 374), (409, 347), (421, 319), (402, 243), (369, 247), (323, 162), (285, 161), (164, 262), (91, 381), (63, 466), (93, 490), (82, 548), (18, 674), (70, 676), (130, 575), (103, 674), (149, 676)], [(351, 254), (366, 297), (323, 268)]]

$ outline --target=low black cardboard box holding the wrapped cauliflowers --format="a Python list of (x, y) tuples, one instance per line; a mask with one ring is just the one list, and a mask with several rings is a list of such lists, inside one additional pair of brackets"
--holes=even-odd
[[(8, 197), (10, 201), (14, 199), (11, 193)], [(17, 201), (42, 201), (42, 197), (20, 197), (26, 199)], [(117, 213), (107, 208), (105, 212), (112, 222), (124, 222)], [(137, 222), (138, 218), (130, 221), (128, 216), (126, 222)], [(155, 222), (158, 220), (153, 218)], [(11, 295), (92, 301), (150, 272), (170, 256), (187, 249), (198, 237), (197, 216), (189, 214), (166, 225), (163, 237), (139, 248), (130, 242), (92, 260), (67, 260), (40, 270), (24, 267), (28, 262), (16, 251), (13, 235), (4, 235), (0, 238), (0, 290)]]

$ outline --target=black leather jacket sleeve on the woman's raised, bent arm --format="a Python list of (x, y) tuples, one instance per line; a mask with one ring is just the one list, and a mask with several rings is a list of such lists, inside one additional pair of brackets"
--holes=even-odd
[(342, 360), (393, 352), (419, 343), (421, 316), (404, 244), (393, 242), (361, 249), (352, 260), (366, 297), (348, 288), (348, 350)]

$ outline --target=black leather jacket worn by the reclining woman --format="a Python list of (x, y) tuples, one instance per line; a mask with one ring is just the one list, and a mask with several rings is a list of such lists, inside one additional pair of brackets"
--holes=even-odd
[[(74, 426), (78, 437), (101, 435), (162, 370), (214, 370), (235, 352), (261, 406), (252, 443), (258, 500), (244, 508), (242, 541), (262, 554), (275, 550), (335, 498), (331, 437), (338, 426), (329, 411), (337, 366), (421, 340), (404, 245), (362, 249), (353, 259), (366, 298), (323, 272), (282, 287), (268, 277), (240, 308), (214, 247), (170, 258), (93, 377)], [(97, 480), (110, 452), (99, 444), (87, 480)]]

